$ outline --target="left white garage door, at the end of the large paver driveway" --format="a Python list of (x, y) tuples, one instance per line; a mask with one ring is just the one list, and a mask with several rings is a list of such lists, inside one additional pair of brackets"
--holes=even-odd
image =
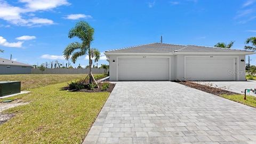
[(118, 80), (168, 80), (169, 59), (118, 59)]

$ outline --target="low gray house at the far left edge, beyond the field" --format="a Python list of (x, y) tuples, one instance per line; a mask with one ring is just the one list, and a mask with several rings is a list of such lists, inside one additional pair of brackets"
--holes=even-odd
[(25, 63), (0, 58), (0, 75), (31, 74), (31, 66)]

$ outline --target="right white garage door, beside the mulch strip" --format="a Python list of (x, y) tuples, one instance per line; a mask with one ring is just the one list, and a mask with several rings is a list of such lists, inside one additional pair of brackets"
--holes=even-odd
[(188, 80), (235, 80), (234, 58), (186, 58)]

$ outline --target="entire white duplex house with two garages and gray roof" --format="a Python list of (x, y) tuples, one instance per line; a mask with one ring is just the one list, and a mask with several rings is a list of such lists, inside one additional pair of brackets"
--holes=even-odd
[(252, 51), (152, 43), (106, 51), (110, 81), (245, 81), (245, 55)]

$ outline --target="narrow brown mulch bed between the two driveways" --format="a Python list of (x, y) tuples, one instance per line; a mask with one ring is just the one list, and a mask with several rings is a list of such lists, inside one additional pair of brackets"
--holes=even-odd
[(211, 94), (214, 94), (214, 95), (218, 95), (218, 96), (221, 96), (222, 94), (228, 94), (228, 95), (239, 94), (239, 93), (230, 92), (230, 91), (227, 91), (227, 90), (222, 90), (222, 89), (218, 89), (218, 88), (215, 88), (215, 87), (202, 85), (202, 84), (198, 84), (198, 83), (194, 83), (194, 82), (190, 82), (190, 81), (179, 81), (177, 83), (182, 84), (182, 85), (186, 85), (186, 86), (189, 86), (189, 87), (193, 87), (194, 89), (201, 90), (201, 91), (211, 93)]

